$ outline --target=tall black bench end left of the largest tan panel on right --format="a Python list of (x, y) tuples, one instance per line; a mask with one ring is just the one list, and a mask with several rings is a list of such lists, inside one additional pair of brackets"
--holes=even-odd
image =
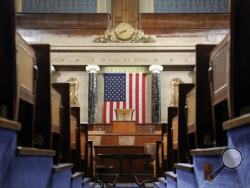
[[(196, 148), (211, 147), (213, 140), (211, 94), (209, 89), (209, 57), (215, 45), (196, 46)], [(204, 100), (206, 99), (206, 100)]]

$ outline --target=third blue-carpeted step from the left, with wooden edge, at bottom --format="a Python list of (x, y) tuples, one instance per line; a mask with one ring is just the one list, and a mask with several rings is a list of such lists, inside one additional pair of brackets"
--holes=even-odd
[(69, 188), (72, 163), (60, 163), (52, 168), (52, 188)]

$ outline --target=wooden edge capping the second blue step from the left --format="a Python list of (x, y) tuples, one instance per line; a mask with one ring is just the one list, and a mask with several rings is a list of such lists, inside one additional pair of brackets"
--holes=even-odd
[(17, 147), (18, 155), (29, 155), (29, 156), (48, 156), (53, 157), (56, 155), (54, 150), (47, 149), (37, 149), (37, 148), (27, 148), (27, 147)]

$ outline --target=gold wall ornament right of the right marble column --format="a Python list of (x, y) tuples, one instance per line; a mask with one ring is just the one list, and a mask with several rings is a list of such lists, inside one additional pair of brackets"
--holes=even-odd
[(179, 84), (183, 83), (180, 78), (173, 78), (170, 82), (171, 101), (169, 106), (178, 106), (179, 104)]

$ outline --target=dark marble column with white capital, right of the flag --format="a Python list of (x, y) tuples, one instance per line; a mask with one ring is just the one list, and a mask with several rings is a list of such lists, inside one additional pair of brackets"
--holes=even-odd
[(149, 71), (152, 73), (152, 123), (161, 122), (161, 82), (160, 73), (163, 70), (161, 65), (151, 65)]

